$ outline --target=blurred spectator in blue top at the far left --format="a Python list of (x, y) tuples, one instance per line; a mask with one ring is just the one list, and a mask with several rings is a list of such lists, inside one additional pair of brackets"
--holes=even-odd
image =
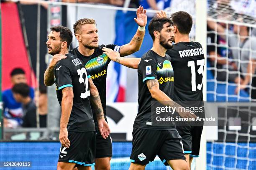
[[(13, 69), (13, 71), (10, 73), (10, 76), (13, 85), (27, 82), (25, 71), (21, 68)], [(29, 96), (33, 99), (34, 90), (31, 87), (29, 89)], [(9, 128), (15, 128), (20, 126), (23, 117), (21, 103), (15, 101), (11, 89), (6, 89), (5, 91), (3, 91), (2, 99), (4, 112), (4, 126)]]

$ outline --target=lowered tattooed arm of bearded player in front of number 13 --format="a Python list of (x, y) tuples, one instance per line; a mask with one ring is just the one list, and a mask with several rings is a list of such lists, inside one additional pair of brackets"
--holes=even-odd
[[(161, 104), (165, 106), (182, 107), (181, 105), (174, 102), (169, 96), (167, 96), (163, 91), (159, 89), (159, 83), (157, 79), (147, 80), (146, 84), (148, 86), (148, 90), (153, 99), (156, 99), (157, 101), (159, 101)], [(191, 114), (190, 112), (179, 112), (179, 115), (181, 117), (197, 118), (195, 114)]]

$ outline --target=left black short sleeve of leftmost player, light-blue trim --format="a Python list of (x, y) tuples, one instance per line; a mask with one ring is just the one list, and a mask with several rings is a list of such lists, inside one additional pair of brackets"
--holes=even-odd
[(60, 63), (57, 64), (54, 68), (54, 76), (58, 90), (61, 90), (65, 87), (73, 87), (71, 71), (67, 66), (63, 64), (61, 65)]

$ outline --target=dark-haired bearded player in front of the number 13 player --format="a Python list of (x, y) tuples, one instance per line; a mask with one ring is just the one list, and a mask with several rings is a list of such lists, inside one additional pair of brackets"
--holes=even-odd
[[(174, 72), (171, 58), (166, 54), (166, 50), (172, 48), (173, 29), (172, 20), (168, 18), (153, 18), (148, 25), (153, 47), (142, 56), (138, 64), (139, 107), (133, 124), (130, 170), (144, 170), (156, 155), (174, 170), (189, 170), (183, 152), (182, 138), (175, 125), (170, 122), (166, 126), (160, 126), (151, 121), (152, 101), (159, 101), (171, 107), (181, 107), (172, 101)], [(109, 48), (103, 48), (103, 51), (111, 59), (116, 60), (119, 57), (119, 53)], [(133, 59), (135, 61), (136, 58)], [(167, 81), (162, 81), (163, 79)], [(189, 112), (179, 114), (182, 117), (196, 118)]]

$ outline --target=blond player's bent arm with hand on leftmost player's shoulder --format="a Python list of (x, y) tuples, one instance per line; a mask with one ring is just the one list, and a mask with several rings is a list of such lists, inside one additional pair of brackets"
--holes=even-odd
[(63, 54), (56, 54), (51, 60), (51, 63), (49, 64), (48, 68), (44, 72), (44, 85), (51, 86), (54, 84), (54, 67), (58, 61), (60, 61), (63, 58), (67, 58), (67, 56)]

